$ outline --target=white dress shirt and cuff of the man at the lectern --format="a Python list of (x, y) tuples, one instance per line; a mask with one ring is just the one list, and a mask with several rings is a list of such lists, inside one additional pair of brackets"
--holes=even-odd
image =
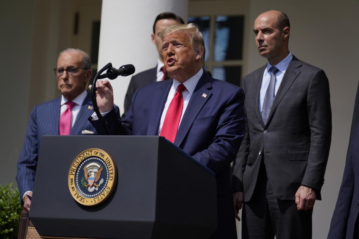
[[(197, 85), (198, 81), (200, 80), (202, 74), (203, 74), (203, 69), (201, 68), (201, 69), (196, 73), (196, 75), (192, 76), (191, 78), (189, 78), (187, 81), (185, 81), (185, 82), (183, 83), (183, 85), (185, 85), (185, 87), (186, 87), (186, 90), (182, 91), (183, 108), (182, 108), (182, 114), (181, 114), (180, 124), (178, 125), (178, 127), (181, 125), (181, 121), (182, 121), (183, 114), (185, 114), (185, 111), (186, 111), (188, 102), (190, 101), (191, 96), (192, 96), (193, 92), (195, 91), (196, 85)], [(176, 94), (176, 92), (177, 92), (177, 86), (180, 85), (180, 84), (181, 84), (181, 82), (177, 81), (176, 79), (173, 79), (173, 83), (172, 83), (171, 89), (169, 90), (168, 95), (167, 95), (167, 101), (166, 101), (166, 103), (164, 104), (164, 108), (163, 108), (163, 111), (162, 111), (161, 120), (160, 120), (160, 122), (159, 122), (158, 134), (157, 134), (157, 135), (159, 135), (160, 132), (161, 132), (162, 125), (163, 125), (163, 121), (164, 121), (164, 118), (165, 118), (166, 113), (167, 113), (167, 110), (168, 110), (168, 106), (169, 106), (169, 104), (171, 103), (171, 101), (172, 101), (172, 99), (173, 99), (173, 97), (174, 97), (174, 94)], [(103, 113), (101, 113), (101, 115), (104, 116), (104, 115), (106, 115), (108, 112), (110, 112), (110, 111), (103, 112)], [(97, 115), (96, 115), (95, 112), (91, 115), (91, 119), (92, 119), (92, 120), (98, 120), (98, 117), (97, 117)]]

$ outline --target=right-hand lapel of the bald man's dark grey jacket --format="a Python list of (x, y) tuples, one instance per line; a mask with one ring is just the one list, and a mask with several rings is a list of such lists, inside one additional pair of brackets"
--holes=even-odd
[(292, 61), (289, 63), (289, 66), (284, 73), (283, 80), (280, 83), (278, 92), (273, 101), (273, 105), (270, 110), (267, 123), (270, 121), (271, 117), (273, 116), (275, 110), (279, 105), (279, 102), (283, 99), (283, 96), (288, 91), (289, 87), (293, 84), (295, 79), (297, 79), (298, 75), (300, 74), (300, 66), (302, 66), (302, 63), (297, 58), (295, 58), (295, 56), (293, 56)]

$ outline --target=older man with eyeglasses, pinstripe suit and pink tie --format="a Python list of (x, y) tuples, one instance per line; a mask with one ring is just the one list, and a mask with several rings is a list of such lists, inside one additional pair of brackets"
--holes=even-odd
[[(61, 96), (36, 105), (31, 111), (17, 176), (24, 210), (29, 212), (42, 135), (97, 134), (88, 118), (93, 113), (91, 95), (86, 90), (92, 75), (90, 57), (80, 49), (60, 52), (54, 69)], [(118, 107), (116, 112), (119, 115)]]

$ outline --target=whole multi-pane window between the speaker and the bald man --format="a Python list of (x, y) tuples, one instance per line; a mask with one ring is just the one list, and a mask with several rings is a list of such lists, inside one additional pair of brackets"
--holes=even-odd
[(212, 77), (240, 86), (243, 64), (244, 16), (191, 16), (203, 34), (206, 69)]

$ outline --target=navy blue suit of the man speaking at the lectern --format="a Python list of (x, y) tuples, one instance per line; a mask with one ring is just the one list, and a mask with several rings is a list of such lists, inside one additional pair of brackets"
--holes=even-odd
[[(105, 115), (111, 134), (158, 135), (172, 82), (159, 81), (137, 90), (121, 121), (113, 110)], [(202, 97), (204, 93), (206, 97)], [(216, 174), (218, 230), (213, 238), (237, 238), (229, 172), (244, 137), (243, 104), (241, 88), (203, 73), (174, 140), (174, 144)], [(104, 134), (99, 120), (92, 123), (99, 134)]]

